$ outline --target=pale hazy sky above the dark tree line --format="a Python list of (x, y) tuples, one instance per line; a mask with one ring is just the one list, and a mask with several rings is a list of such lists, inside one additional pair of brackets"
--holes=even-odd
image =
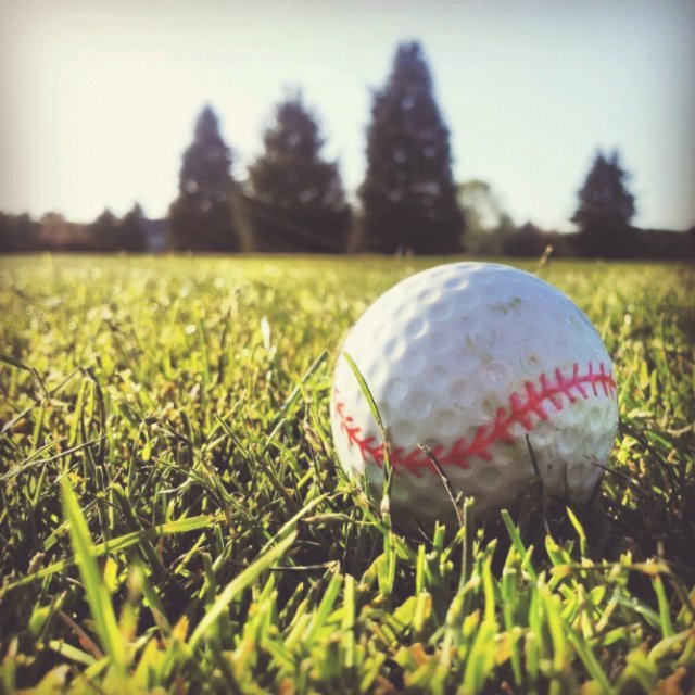
[(693, 0), (0, 0), (0, 210), (89, 222), (176, 198), (205, 104), (233, 173), (301, 88), (350, 194), (371, 90), (422, 43), (456, 180), (518, 224), (569, 230), (598, 148), (621, 154), (635, 224), (695, 224)]

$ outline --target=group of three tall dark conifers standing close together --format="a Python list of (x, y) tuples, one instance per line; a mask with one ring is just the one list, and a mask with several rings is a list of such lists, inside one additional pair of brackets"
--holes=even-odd
[(276, 105), (263, 152), (243, 181), (206, 106), (184, 153), (169, 211), (174, 248), (194, 251), (394, 253), (462, 251), (464, 214), (451, 167), (448, 129), (417, 42), (399, 47), (387, 85), (375, 92), (367, 172), (348, 202), (336, 162), (301, 93)]

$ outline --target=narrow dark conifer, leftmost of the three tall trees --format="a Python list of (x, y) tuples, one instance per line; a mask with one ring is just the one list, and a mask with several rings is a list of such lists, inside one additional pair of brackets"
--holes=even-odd
[(217, 116), (205, 106), (195, 124), (192, 144), (184, 152), (179, 194), (169, 208), (175, 249), (238, 251), (230, 197), (231, 150), (219, 135)]

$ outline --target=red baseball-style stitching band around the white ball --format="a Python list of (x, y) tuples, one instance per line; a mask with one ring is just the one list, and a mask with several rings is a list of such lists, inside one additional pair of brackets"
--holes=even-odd
[[(549, 415), (548, 406), (556, 410), (565, 407), (560, 396), (567, 396), (570, 404), (576, 403), (579, 397), (589, 399), (592, 394), (598, 396), (603, 391), (605, 396), (612, 397), (616, 393), (616, 381), (610, 370), (602, 362), (598, 371), (594, 370), (594, 365), (590, 362), (586, 371), (580, 374), (579, 365), (574, 364), (570, 377), (563, 375), (560, 369), (555, 370), (554, 379), (542, 374), (538, 384), (527, 381), (523, 392), (515, 392), (509, 396), (509, 405), (497, 409), (495, 419), (488, 425), (481, 425), (473, 434), (470, 442), (466, 439), (458, 439), (454, 442), (450, 451), (445, 451), (443, 445), (432, 448), (432, 454), (440, 464), (469, 468), (470, 458), (477, 456), (483, 460), (492, 460), (490, 448), (495, 442), (514, 442), (514, 435), (509, 431), (513, 425), (521, 425), (527, 432), (533, 429), (538, 420), (547, 420)], [(340, 429), (346, 434), (351, 446), (357, 446), (362, 458), (374, 459), (379, 466), (383, 464), (383, 444), (376, 441), (374, 437), (364, 437), (362, 428), (354, 424), (354, 419), (345, 412), (345, 404), (339, 400), (340, 393), (334, 392), (336, 415), (340, 420)], [(431, 462), (427, 454), (416, 447), (410, 452), (404, 448), (393, 448), (389, 452), (389, 458), (395, 470), (406, 468), (415, 476), (419, 476), (422, 466), (430, 467)]]

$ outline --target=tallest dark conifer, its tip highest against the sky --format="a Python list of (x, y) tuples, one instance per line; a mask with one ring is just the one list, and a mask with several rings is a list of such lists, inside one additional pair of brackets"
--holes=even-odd
[(464, 219), (451, 170), (448, 129), (417, 42), (399, 46), (386, 86), (375, 92), (367, 174), (359, 188), (363, 245), (393, 253), (460, 250)]

